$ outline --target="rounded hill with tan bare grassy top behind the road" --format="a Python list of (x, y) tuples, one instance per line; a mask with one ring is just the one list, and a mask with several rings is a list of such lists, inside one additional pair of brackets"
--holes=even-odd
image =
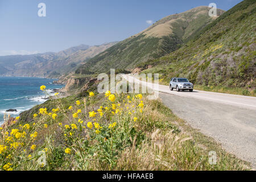
[[(107, 72), (110, 68), (131, 69), (136, 64), (156, 59), (175, 51), (195, 32), (207, 26), (214, 18), (209, 7), (200, 6), (184, 13), (167, 16), (137, 35), (119, 42), (93, 57), (77, 69), (76, 73)], [(218, 14), (224, 13), (218, 10)]]

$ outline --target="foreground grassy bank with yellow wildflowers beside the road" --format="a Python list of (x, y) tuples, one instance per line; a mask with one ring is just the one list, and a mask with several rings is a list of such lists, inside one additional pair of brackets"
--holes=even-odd
[[(159, 100), (141, 94), (110, 96), (54, 96), (24, 111), (0, 128), (0, 170), (250, 169)], [(216, 165), (209, 163), (213, 150)], [(42, 155), (46, 160), (39, 160)]]

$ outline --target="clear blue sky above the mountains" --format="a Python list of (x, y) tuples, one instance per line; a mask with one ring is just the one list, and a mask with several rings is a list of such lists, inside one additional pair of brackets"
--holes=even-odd
[[(41, 2), (46, 17), (38, 16)], [(212, 2), (229, 10), (241, 0), (0, 0), (0, 56), (120, 41), (150, 26), (150, 20)]]

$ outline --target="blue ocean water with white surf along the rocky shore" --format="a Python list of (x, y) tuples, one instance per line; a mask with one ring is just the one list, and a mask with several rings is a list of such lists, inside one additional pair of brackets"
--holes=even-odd
[(0, 77), (0, 125), (6, 110), (16, 109), (17, 112), (9, 112), (11, 117), (16, 117), (22, 111), (45, 102), (43, 98), (47, 96), (40, 90), (41, 85), (46, 85), (48, 93), (64, 86), (52, 84), (53, 81), (47, 78)]

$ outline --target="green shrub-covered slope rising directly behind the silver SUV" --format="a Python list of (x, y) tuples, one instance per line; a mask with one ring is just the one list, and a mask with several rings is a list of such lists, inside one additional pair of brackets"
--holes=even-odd
[(255, 94), (255, 8), (252, 0), (239, 3), (177, 51), (138, 67), (150, 65), (144, 72), (161, 73), (166, 83), (180, 76), (197, 85), (246, 88), (243, 94)]

